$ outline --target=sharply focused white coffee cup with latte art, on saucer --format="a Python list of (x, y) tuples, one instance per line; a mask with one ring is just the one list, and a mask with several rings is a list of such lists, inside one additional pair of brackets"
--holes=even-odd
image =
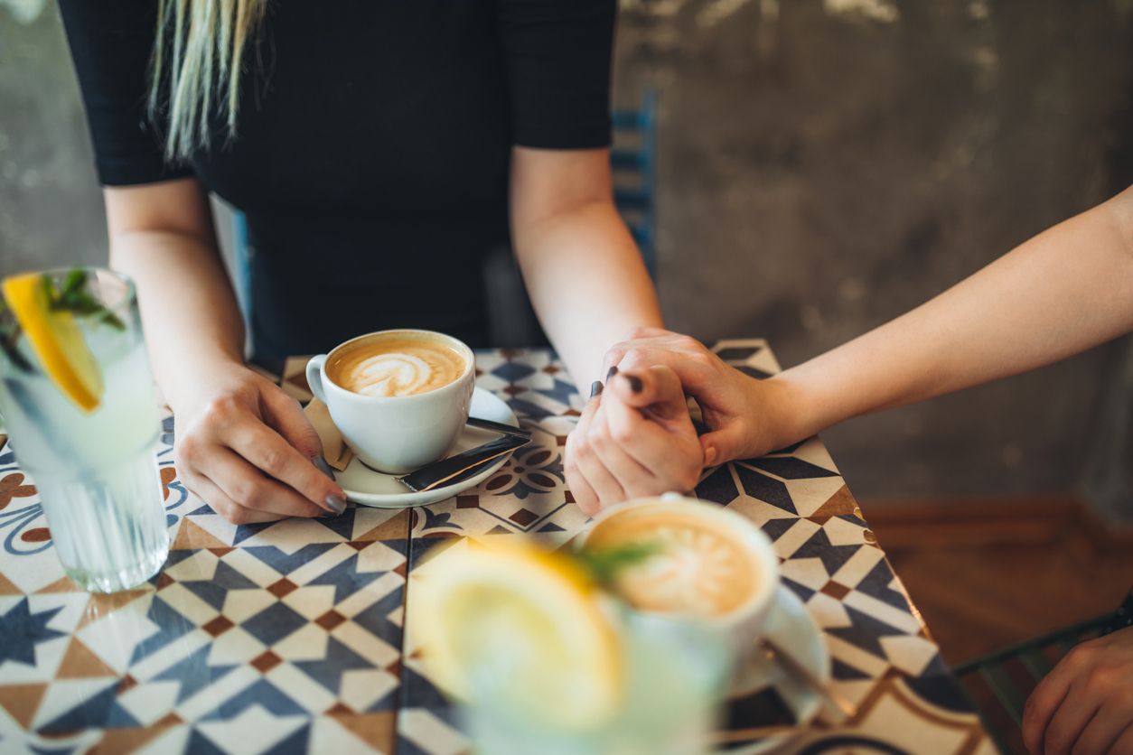
[(403, 474), (443, 458), (468, 421), (472, 350), (432, 331), (381, 331), (307, 362), (310, 392), (367, 466)]

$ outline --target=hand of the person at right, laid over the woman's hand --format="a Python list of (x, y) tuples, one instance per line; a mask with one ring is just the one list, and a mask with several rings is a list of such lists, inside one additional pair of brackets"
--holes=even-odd
[(700, 437), (707, 466), (759, 456), (819, 429), (800, 422), (801, 400), (787, 380), (748, 377), (687, 335), (640, 328), (610, 350), (606, 363), (623, 372), (664, 364), (676, 374), (710, 430)]

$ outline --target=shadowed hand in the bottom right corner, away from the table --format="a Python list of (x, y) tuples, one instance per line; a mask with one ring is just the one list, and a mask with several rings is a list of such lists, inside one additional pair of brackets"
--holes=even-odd
[(1034, 755), (1133, 753), (1133, 627), (1058, 662), (1026, 701), (1023, 741)]

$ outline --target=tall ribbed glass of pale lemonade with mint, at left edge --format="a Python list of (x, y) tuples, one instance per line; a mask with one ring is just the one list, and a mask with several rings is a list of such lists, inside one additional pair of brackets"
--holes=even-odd
[[(126, 590), (153, 576), (169, 554), (154, 457), (161, 418), (134, 284), (97, 268), (42, 275), (50, 306), (42, 308), (49, 335), (41, 331), (41, 338), (56, 338), (65, 353), (88, 351), (101, 396), (93, 409), (69, 397), (26, 323), (6, 311), (0, 412), (16, 458), (39, 489), (63, 570), (92, 592)], [(69, 299), (60, 303), (60, 295)], [(58, 310), (67, 310), (85, 351), (77, 338), (51, 331)]]

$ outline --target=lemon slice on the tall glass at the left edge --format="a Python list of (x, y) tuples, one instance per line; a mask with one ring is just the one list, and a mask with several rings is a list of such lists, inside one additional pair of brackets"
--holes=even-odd
[(52, 311), (40, 273), (3, 280), (3, 298), (40, 358), (44, 374), (56, 387), (84, 412), (102, 402), (102, 372), (83, 340), (75, 317), (68, 311)]

